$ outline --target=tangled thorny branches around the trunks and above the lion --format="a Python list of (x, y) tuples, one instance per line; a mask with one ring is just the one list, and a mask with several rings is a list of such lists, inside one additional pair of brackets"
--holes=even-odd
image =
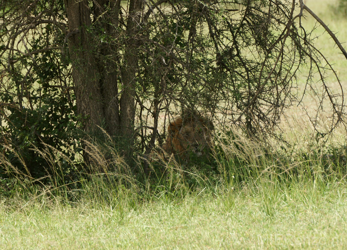
[[(23, 6), (14, 5), (19, 15), (9, 8), (0, 22), (4, 44), (0, 64), (7, 78), (1, 91), (12, 95), (11, 103), (20, 109), (23, 99), (27, 100), (24, 106), (35, 109), (45, 91), (67, 95), (74, 106), (76, 88), (66, 46), (79, 29), (67, 28), (63, 5), (47, 4), (48, 9), (36, 10), (39, 1), (23, 2)], [(337, 81), (338, 77), (295, 19), (306, 10), (346, 58), (347, 53), (303, 0), (297, 16), (293, 16), (296, 0), (143, 1), (136, 23), (140, 32), (130, 38), (124, 21), (128, 5), (116, 2), (115, 6), (98, 4), (89, 9), (97, 18), (88, 31), (93, 32), (90, 42), (98, 62), (109, 65), (103, 77), (115, 75), (111, 82), (118, 93), (115, 102), (124, 91), (121, 70), (126, 66), (123, 55), (128, 39), (138, 46), (134, 49), (138, 57), (135, 131), (141, 151), (149, 153), (160, 136), (165, 136), (167, 122), (185, 108), (209, 115), (225, 129), (236, 125), (250, 135), (274, 134), (285, 108), (297, 101), (293, 94), (298, 86), (296, 76), (306, 61), (309, 77), (313, 69), (320, 74), (321, 105), (326, 97), (332, 106), (329, 131), (343, 121), (342, 88), (338, 96), (333, 95), (324, 70), (332, 70)], [(95, 13), (97, 9), (101, 13)], [(328, 69), (321, 66), (321, 58)]]

